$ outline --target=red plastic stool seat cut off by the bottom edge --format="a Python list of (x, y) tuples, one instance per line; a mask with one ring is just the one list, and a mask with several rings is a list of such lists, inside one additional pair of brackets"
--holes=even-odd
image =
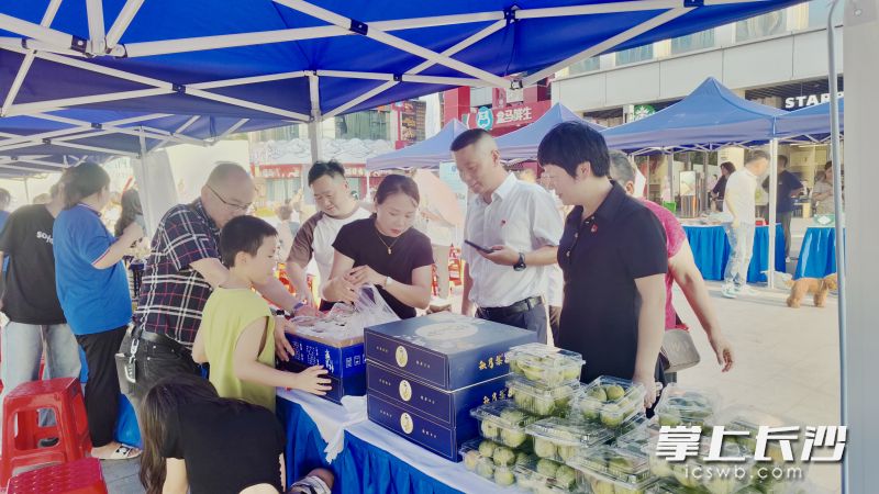
[(15, 475), (7, 494), (107, 494), (101, 462), (84, 458)]

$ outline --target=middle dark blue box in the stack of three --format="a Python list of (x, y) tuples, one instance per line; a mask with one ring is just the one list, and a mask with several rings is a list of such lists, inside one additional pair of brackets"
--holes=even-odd
[(366, 364), (368, 394), (380, 395), (382, 400), (411, 414), (452, 428), (475, 429), (470, 409), (491, 401), (504, 400), (508, 395), (507, 378), (502, 375), (460, 390), (445, 391), (407, 379), (383, 366), (372, 362)]

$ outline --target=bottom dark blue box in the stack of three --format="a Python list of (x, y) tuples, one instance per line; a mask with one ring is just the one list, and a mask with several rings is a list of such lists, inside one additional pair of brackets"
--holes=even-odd
[(367, 393), (366, 402), (370, 420), (446, 460), (460, 461), (460, 445), (479, 435), (476, 420), (448, 427), (412, 413), (378, 393)]

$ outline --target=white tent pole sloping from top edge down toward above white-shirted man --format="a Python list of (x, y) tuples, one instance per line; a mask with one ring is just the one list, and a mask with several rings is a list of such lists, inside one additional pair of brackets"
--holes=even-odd
[[(348, 29), (348, 26), (351, 26), (352, 22), (354, 21), (353, 19), (337, 14), (335, 12), (314, 5), (303, 0), (274, 0), (274, 1), (285, 7), (289, 7), (290, 9), (309, 14), (315, 19), (320, 19), (331, 24), (335, 24), (340, 27)], [(498, 88), (509, 88), (511, 85), (511, 81), (509, 79), (504, 79), (503, 77), (496, 76), (487, 70), (476, 68), (469, 64), (465, 64), (448, 56), (438, 54), (434, 50), (427, 49), (423, 46), (419, 46), (414, 43), (408, 42), (401, 37), (388, 34), (385, 31), (381, 31), (380, 29), (377, 29), (375, 26), (369, 26), (369, 29), (366, 31), (366, 34), (364, 35), (366, 37), (369, 37), (370, 40), (375, 40), (379, 43), (392, 46), (397, 49), (407, 52), (411, 55), (422, 57), (425, 60), (434, 61), (436, 64), (472, 76), (477, 79), (483, 80), (488, 86)]]

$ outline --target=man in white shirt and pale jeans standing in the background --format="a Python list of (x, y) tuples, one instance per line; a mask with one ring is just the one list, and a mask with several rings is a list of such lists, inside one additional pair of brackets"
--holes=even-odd
[(730, 260), (726, 262), (723, 296), (735, 299), (742, 293), (753, 295), (756, 291), (747, 285), (748, 266), (754, 251), (757, 206), (755, 194), (760, 176), (769, 168), (769, 155), (761, 150), (750, 154), (745, 168), (730, 176), (723, 199), (723, 211), (731, 222), (724, 225), (730, 238)]

